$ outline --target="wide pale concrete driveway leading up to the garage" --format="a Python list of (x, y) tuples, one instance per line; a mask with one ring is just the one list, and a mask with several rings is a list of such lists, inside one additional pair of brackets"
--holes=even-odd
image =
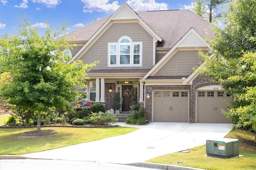
[(226, 136), (232, 128), (232, 124), (212, 123), (153, 122), (143, 126), (117, 124), (126, 127), (139, 127), (140, 129), (120, 136), (22, 156), (130, 164), (203, 145), (207, 139)]

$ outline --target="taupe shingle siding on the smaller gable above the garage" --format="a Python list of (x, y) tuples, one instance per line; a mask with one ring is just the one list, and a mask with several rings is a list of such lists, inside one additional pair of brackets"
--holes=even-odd
[(198, 51), (178, 51), (154, 76), (190, 75), (200, 63)]

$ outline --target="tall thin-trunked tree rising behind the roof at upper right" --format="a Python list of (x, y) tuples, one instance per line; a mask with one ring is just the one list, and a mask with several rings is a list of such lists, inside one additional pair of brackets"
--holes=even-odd
[(195, 0), (193, 3), (193, 11), (206, 18), (210, 23), (215, 23), (216, 20), (222, 17), (222, 13), (219, 12), (219, 7), (231, 0)]

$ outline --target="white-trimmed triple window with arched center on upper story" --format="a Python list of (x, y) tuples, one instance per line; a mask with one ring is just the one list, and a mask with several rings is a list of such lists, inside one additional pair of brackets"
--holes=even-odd
[(132, 42), (128, 36), (108, 43), (108, 67), (141, 67), (142, 42)]

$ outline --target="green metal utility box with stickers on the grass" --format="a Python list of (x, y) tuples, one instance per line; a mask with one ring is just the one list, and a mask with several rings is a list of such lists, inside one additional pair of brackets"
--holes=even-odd
[(206, 140), (206, 154), (217, 158), (232, 158), (239, 156), (238, 139), (215, 138)]

